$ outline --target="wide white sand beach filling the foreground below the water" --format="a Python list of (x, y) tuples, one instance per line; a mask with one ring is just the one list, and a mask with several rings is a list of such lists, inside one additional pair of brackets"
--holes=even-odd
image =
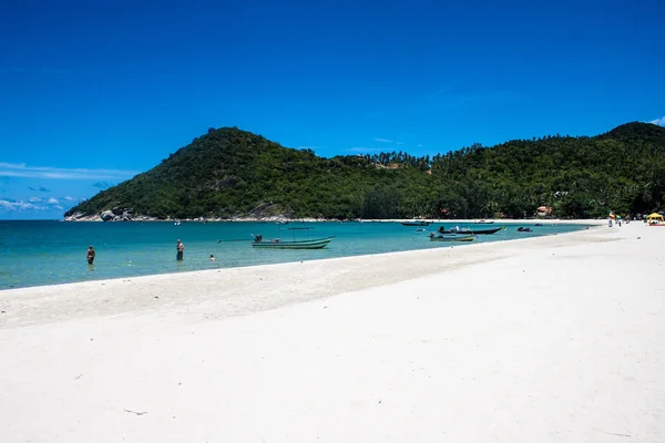
[(0, 291), (0, 442), (665, 441), (665, 228)]

